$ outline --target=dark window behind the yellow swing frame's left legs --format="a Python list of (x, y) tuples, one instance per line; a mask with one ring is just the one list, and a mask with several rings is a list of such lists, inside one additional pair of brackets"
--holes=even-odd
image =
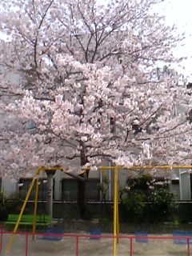
[[(32, 182), (32, 178), (20, 178), (18, 186), (19, 186), (19, 194), (22, 199), (26, 198), (26, 194), (30, 189), (31, 182)], [(53, 188), (53, 191), (54, 191), (54, 188)], [(35, 184), (30, 193), (29, 200), (34, 200), (34, 195), (35, 195)], [(39, 201), (46, 200), (46, 179), (45, 178), (39, 178), (38, 200)]]

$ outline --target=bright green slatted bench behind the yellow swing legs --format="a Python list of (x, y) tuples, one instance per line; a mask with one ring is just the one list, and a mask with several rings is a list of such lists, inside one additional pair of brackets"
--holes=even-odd
[[(18, 222), (18, 214), (9, 214), (5, 226), (15, 225)], [(19, 226), (33, 226), (34, 215), (33, 214), (22, 214)], [(37, 215), (36, 226), (49, 226), (51, 224), (51, 218), (49, 215)]]

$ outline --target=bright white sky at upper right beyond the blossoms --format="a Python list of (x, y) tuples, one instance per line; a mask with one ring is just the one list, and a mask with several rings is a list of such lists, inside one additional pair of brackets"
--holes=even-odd
[[(157, 6), (156, 11), (165, 15), (165, 22), (168, 25), (175, 24), (178, 27), (178, 33), (185, 32), (186, 38), (182, 42), (183, 46), (174, 49), (174, 54), (177, 57), (187, 58), (181, 63), (184, 69), (178, 67), (178, 65), (174, 66), (174, 68), (179, 73), (184, 74), (185, 77), (188, 77), (188, 81), (192, 82), (192, 0), (165, 0), (165, 2)], [(2, 38), (1, 33), (0, 38)]]

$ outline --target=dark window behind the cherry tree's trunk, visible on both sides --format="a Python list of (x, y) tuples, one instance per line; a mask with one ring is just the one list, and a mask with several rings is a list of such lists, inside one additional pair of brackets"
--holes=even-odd
[[(86, 182), (86, 200), (98, 201), (99, 200), (99, 190), (98, 190), (99, 180), (97, 178), (90, 178)], [(74, 202), (78, 198), (78, 181), (72, 178), (62, 179), (62, 201)]]

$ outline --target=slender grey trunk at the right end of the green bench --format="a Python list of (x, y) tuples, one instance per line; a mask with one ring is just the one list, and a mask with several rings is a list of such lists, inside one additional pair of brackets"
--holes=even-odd
[(55, 170), (47, 170), (47, 195), (46, 195), (46, 214), (53, 218), (53, 187)]

